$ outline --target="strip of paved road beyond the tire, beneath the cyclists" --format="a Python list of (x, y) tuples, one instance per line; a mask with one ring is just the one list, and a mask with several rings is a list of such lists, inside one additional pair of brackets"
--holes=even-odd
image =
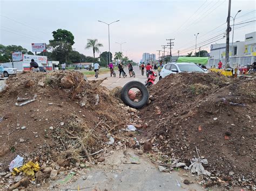
[[(136, 74), (136, 77), (130, 77), (129, 76), (129, 72), (128, 72), (127, 67), (124, 69), (124, 72), (127, 74), (128, 77), (124, 78), (124, 77), (122, 77), (122, 75), (121, 75), (121, 77), (119, 77), (119, 71), (116, 70), (116, 74), (117, 74), (116, 77), (110, 77), (110, 73), (108, 73), (108, 74), (99, 75), (98, 79), (103, 79), (104, 77), (107, 77), (107, 80), (105, 80), (102, 83), (102, 86), (105, 86), (109, 89), (113, 89), (114, 87), (117, 87), (117, 86), (122, 86), (123, 87), (127, 82), (132, 81), (132, 80), (140, 81), (144, 84), (145, 84), (145, 81), (147, 80), (146, 73), (144, 73), (144, 76), (143, 76), (140, 73), (140, 70), (139, 70), (138, 66), (134, 66), (134, 72)], [(95, 77), (88, 77), (88, 80), (96, 80), (96, 78)], [(156, 82), (157, 81), (158, 81), (158, 77), (156, 79)]]

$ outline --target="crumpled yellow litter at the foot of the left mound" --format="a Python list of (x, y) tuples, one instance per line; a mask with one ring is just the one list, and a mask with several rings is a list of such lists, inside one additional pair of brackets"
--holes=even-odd
[(29, 161), (28, 163), (26, 163), (25, 165), (23, 165), (20, 168), (14, 168), (12, 175), (16, 175), (20, 172), (24, 172), (27, 176), (30, 176), (32, 178), (32, 180), (35, 180), (35, 172), (39, 171), (40, 167), (38, 162), (33, 163), (32, 161)]

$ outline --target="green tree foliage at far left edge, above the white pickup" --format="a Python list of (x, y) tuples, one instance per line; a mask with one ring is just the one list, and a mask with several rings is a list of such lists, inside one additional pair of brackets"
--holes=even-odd
[(9, 62), (9, 59), (12, 59), (12, 52), (22, 52), (23, 54), (26, 54), (28, 53), (28, 50), (22, 46), (4, 46), (0, 44), (0, 62)]

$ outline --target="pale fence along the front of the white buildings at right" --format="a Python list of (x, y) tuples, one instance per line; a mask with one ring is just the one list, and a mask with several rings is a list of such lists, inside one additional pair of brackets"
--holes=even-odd
[[(208, 63), (206, 65), (206, 68), (217, 68), (218, 63), (221, 61), (223, 63), (223, 66), (226, 65), (225, 59), (209, 59)], [(252, 65), (253, 62), (256, 61), (256, 56), (244, 56), (244, 57), (235, 57), (235, 58), (230, 58), (230, 67), (237, 67), (239, 65)]]

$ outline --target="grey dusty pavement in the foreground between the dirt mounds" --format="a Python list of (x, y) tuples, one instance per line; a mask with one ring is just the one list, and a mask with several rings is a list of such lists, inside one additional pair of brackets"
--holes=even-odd
[[(129, 158), (140, 164), (124, 164)], [(59, 189), (65, 190), (77, 189), (78, 186), (80, 189), (86, 188), (85, 190), (204, 190), (196, 183), (183, 183), (185, 179), (194, 182), (193, 177), (187, 176), (188, 172), (160, 172), (157, 165), (152, 164), (146, 157), (134, 154), (134, 150), (128, 150), (126, 157), (123, 151), (114, 151), (97, 166), (80, 174), (73, 183), (72, 180), (59, 183), (65, 180), (63, 178), (54, 182), (52, 188), (58, 185)]]

